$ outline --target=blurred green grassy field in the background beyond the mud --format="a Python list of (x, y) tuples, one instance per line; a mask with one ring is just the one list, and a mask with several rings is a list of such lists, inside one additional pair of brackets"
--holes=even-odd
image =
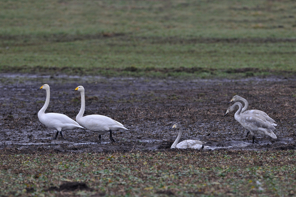
[(1, 1), (0, 71), (295, 74), (293, 1)]

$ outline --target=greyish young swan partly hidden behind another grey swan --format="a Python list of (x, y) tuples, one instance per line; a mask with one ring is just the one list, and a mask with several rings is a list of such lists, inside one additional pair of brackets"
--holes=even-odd
[[(271, 122), (271, 124), (273, 126), (277, 126), (277, 124), (275, 123), (274, 119), (270, 118), (267, 115), (267, 113), (265, 113), (264, 111), (261, 111), (261, 110), (247, 110), (248, 107), (249, 107), (248, 101), (246, 99), (244, 99), (243, 97), (240, 97), (239, 95), (235, 95), (228, 103), (231, 103), (231, 102), (240, 102), (240, 101), (244, 102), (244, 107), (242, 108), (241, 113), (244, 113), (244, 114), (252, 113), (252, 114), (262, 115), (266, 119), (266, 121)], [(247, 132), (246, 137), (248, 137), (249, 133), (250, 133), (250, 131)]]

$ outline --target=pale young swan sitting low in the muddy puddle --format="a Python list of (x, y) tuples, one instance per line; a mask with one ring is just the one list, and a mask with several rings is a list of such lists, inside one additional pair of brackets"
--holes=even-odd
[(178, 128), (179, 129), (179, 134), (178, 134), (177, 139), (174, 141), (174, 143), (170, 147), (171, 149), (174, 149), (174, 148), (178, 148), (178, 149), (187, 149), (187, 148), (203, 149), (204, 148), (203, 144), (207, 143), (205, 141), (192, 140), (192, 139), (184, 140), (184, 141), (181, 141), (180, 143), (178, 143), (181, 136), (182, 136), (183, 128), (182, 128), (182, 125), (180, 123), (174, 124), (173, 127), (170, 128), (170, 129), (173, 129), (173, 128)]

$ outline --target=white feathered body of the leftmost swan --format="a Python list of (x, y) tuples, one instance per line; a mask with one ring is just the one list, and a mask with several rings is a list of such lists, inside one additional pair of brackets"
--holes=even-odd
[(61, 131), (83, 128), (76, 121), (61, 113), (38, 113), (39, 121), (51, 129), (61, 129)]

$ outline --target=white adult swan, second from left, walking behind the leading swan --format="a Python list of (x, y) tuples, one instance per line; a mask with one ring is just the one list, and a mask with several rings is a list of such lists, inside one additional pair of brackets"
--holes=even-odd
[(86, 115), (83, 116), (85, 108), (85, 99), (84, 99), (84, 87), (78, 86), (72, 91), (78, 91), (81, 95), (81, 108), (79, 113), (76, 116), (76, 121), (83, 127), (87, 128), (90, 131), (94, 131), (99, 134), (99, 143), (101, 143), (101, 134), (110, 132), (111, 142), (115, 142), (112, 138), (112, 131), (118, 131), (120, 129), (128, 130), (123, 126), (123, 124), (113, 120), (104, 115)]

